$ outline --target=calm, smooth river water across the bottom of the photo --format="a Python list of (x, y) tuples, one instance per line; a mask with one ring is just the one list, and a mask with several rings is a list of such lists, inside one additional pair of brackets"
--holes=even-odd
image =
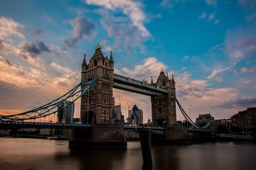
[[(256, 169), (256, 145), (205, 143), (152, 147), (154, 169)], [(141, 169), (139, 142), (127, 150), (70, 150), (68, 141), (0, 138), (0, 169)]]

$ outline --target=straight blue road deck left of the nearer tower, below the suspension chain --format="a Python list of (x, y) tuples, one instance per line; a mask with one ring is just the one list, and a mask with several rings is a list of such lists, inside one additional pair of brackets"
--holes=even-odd
[(56, 123), (41, 123), (41, 122), (0, 121), (0, 129), (19, 129), (19, 128), (37, 128), (37, 129), (92, 129), (92, 125), (84, 125), (84, 124), (56, 124)]

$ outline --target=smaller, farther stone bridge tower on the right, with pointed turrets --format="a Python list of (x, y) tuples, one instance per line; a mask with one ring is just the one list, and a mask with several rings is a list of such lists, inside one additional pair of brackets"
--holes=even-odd
[(171, 127), (176, 122), (176, 103), (175, 103), (175, 81), (168, 78), (168, 73), (164, 74), (161, 69), (156, 83), (151, 80), (152, 85), (157, 85), (168, 90), (168, 94), (157, 94), (151, 97), (152, 106), (152, 125), (154, 127)]

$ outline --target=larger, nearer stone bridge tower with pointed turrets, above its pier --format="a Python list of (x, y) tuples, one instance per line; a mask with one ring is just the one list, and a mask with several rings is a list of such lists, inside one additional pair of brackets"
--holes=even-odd
[[(98, 76), (98, 81), (81, 97), (81, 122), (83, 124), (111, 124), (113, 113), (113, 72), (111, 55), (104, 57), (98, 43), (88, 64), (84, 55), (82, 64), (82, 87)], [(88, 95), (89, 94), (89, 95)], [(88, 115), (88, 117), (87, 117)]]

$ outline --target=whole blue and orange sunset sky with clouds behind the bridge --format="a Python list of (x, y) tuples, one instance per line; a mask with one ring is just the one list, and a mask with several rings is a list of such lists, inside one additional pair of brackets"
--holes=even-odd
[[(256, 106), (254, 0), (0, 0), (0, 114), (31, 110), (72, 89), (84, 53), (90, 59), (98, 42), (105, 56), (113, 50), (116, 74), (148, 81), (162, 67), (173, 74), (193, 120)], [(125, 117), (132, 104), (144, 122), (151, 117), (150, 97), (116, 89), (113, 96)], [(177, 120), (184, 120), (178, 108)]]

